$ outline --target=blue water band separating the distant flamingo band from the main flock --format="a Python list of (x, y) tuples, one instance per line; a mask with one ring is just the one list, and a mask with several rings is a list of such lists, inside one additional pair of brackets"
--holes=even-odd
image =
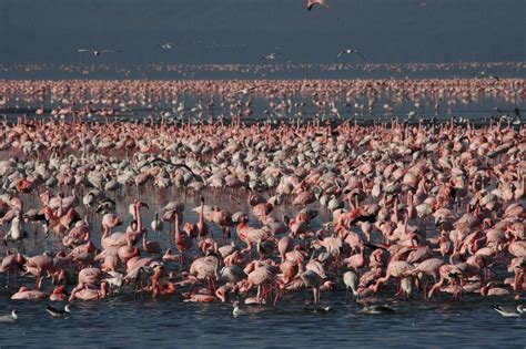
[[(273, 83), (272, 81), (265, 82), (267, 84)], [(340, 121), (340, 120), (352, 120), (358, 123), (367, 123), (372, 121), (390, 121), (393, 117), (401, 120), (408, 120), (409, 122), (416, 123), (418, 120), (426, 120), (431, 117), (436, 117), (437, 120), (451, 120), (456, 117), (469, 119), (472, 122), (486, 124), (489, 122), (489, 119), (498, 119), (503, 115), (515, 117), (515, 110), (518, 109), (522, 111), (522, 114), (526, 110), (526, 100), (524, 96), (513, 96), (513, 97), (503, 97), (494, 94), (479, 95), (476, 99), (464, 100), (456, 95), (446, 95), (439, 100), (433, 95), (421, 95), (418, 99), (409, 100), (408, 97), (403, 97), (398, 102), (394, 102), (395, 93), (386, 92), (377, 96), (377, 100), (374, 102), (373, 106), (368, 107), (370, 96), (364, 93), (356, 93), (353, 95), (351, 102), (347, 103), (345, 99), (345, 90), (338, 93), (331, 93), (330, 96), (325, 97), (324, 101), (333, 102), (334, 106), (337, 107), (338, 113), (331, 111), (331, 107), (325, 107), (320, 110), (313, 102), (311, 94), (294, 93), (287, 94), (285, 97), (272, 97), (261, 93), (254, 93), (250, 96), (252, 102), (252, 115), (242, 115), (243, 122), (253, 122), (262, 120), (271, 121), (295, 121), (295, 120), (313, 120), (318, 119), (322, 122), (326, 120)], [(173, 100), (168, 95), (160, 99), (160, 101), (152, 101), (149, 105), (134, 105), (127, 106), (121, 109), (120, 106), (111, 106), (114, 109), (114, 115), (110, 119), (117, 119), (122, 121), (130, 120), (190, 120), (190, 121), (208, 121), (210, 117), (214, 120), (229, 121), (237, 112), (232, 112), (229, 110), (231, 105), (226, 104), (227, 107), (224, 110), (220, 106), (224, 96), (216, 92), (211, 92), (210, 95), (206, 95), (204, 99), (202, 95), (196, 95), (194, 93), (178, 93), (173, 96)], [(27, 116), (29, 119), (37, 117), (42, 119), (36, 114), (37, 109), (43, 106), (44, 114), (43, 117), (49, 117), (52, 109), (64, 107), (60, 102), (51, 101), (50, 96), (47, 96), (47, 100), (43, 104), (36, 100), (28, 101), (27, 96), (23, 94), (14, 94), (19, 96), (20, 100), (17, 102), (11, 101), (6, 110), (0, 110), (0, 115), (6, 115), (8, 120), (16, 121), (19, 116)], [(243, 102), (249, 99), (242, 99)], [(275, 111), (271, 106), (271, 103), (280, 104), (283, 101), (291, 100), (293, 103), (302, 103), (304, 106), (290, 106), (286, 110)], [(448, 101), (453, 100), (456, 103), (448, 105)], [(208, 102), (213, 102), (213, 107), (208, 107)], [(415, 106), (415, 103), (421, 104), (419, 107)], [(85, 102), (84, 102), (85, 103)], [(357, 104), (358, 106), (356, 106)], [(384, 109), (384, 104), (388, 104), (391, 110)], [(184, 106), (184, 111), (178, 111), (180, 105)], [(77, 110), (82, 110), (84, 104), (78, 103), (75, 105)], [(107, 110), (110, 106), (102, 103), (94, 102), (90, 105), (94, 110)], [(191, 111), (192, 109), (199, 106), (200, 110)], [(437, 106), (437, 107), (436, 107)], [(201, 110), (201, 107), (203, 107)], [(244, 109), (242, 107), (242, 111)], [(408, 119), (409, 113), (414, 115)], [(95, 113), (93, 113), (95, 115)], [(166, 116), (163, 116), (166, 115)], [(72, 120), (72, 115), (63, 116), (65, 120)], [(92, 116), (91, 120), (95, 120), (97, 116)], [(101, 119), (99, 119), (101, 120)]]

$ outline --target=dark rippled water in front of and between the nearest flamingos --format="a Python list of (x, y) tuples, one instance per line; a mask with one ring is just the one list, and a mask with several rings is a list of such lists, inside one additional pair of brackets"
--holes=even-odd
[[(199, 205), (198, 195), (186, 195), (179, 189), (142, 191), (129, 188), (129, 203), (139, 197), (150, 205), (145, 212), (145, 224), (150, 225), (154, 211), (171, 199), (185, 203), (184, 219), (195, 222), (198, 215), (192, 211)], [(231, 198), (222, 191), (204, 193), (208, 204), (230, 207), (231, 212), (247, 209), (244, 194), (234, 193)], [(239, 198), (240, 203), (235, 199)], [(24, 204), (34, 206), (34, 198), (26, 198)], [(131, 219), (128, 207), (121, 196), (118, 197), (118, 212), (125, 217), (124, 225)], [(292, 211), (289, 205), (276, 207), (277, 215)], [(326, 222), (328, 212), (320, 211), (314, 227)], [(252, 217), (251, 217), (252, 218)], [(98, 216), (93, 225), (92, 240), (99, 245), (100, 222)], [(254, 220), (251, 219), (252, 224)], [(209, 225), (215, 237), (220, 238), (218, 227)], [(30, 230), (30, 226), (26, 227)], [(119, 229), (118, 229), (119, 230)], [(168, 224), (161, 236), (162, 246), (173, 246), (166, 237)], [(149, 236), (149, 239), (155, 236)], [(44, 239), (39, 232), (37, 238), (29, 240), (24, 248), (29, 255), (44, 249), (57, 250), (60, 243)], [(26, 278), (23, 285), (33, 285), (34, 279)], [(0, 275), (0, 285), (4, 285), (4, 275)], [(49, 289), (49, 280), (44, 289)], [(330, 306), (328, 314), (305, 310), (301, 292), (284, 295), (276, 306), (264, 305), (245, 307), (246, 315), (232, 316), (230, 304), (183, 302), (180, 292), (173, 297), (152, 299), (145, 296), (117, 296), (100, 302), (75, 301), (72, 315), (68, 319), (52, 319), (45, 312), (45, 300), (12, 301), (10, 296), (14, 287), (0, 289), (0, 314), (12, 308), (20, 312), (16, 324), (0, 324), (0, 347), (7, 346), (123, 346), (144, 347), (515, 347), (524, 348), (526, 316), (503, 318), (492, 309), (494, 302), (515, 305), (510, 297), (484, 299), (467, 295), (463, 300), (452, 301), (434, 299), (403, 301), (386, 298), (395, 310), (394, 315), (363, 315), (356, 304), (345, 304), (343, 290), (322, 292), (322, 306)], [(382, 295), (392, 296), (395, 290), (386, 288)], [(306, 300), (310, 300), (310, 292)], [(524, 302), (524, 297), (523, 300)], [(307, 309), (311, 309), (306, 306)]]

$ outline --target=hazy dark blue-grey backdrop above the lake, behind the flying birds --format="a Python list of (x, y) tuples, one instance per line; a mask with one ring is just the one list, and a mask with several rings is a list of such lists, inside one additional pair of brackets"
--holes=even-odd
[(526, 0), (327, 2), (307, 12), (304, 0), (0, 0), (0, 63), (256, 63), (275, 47), (292, 62), (333, 62), (347, 47), (370, 62), (526, 60)]

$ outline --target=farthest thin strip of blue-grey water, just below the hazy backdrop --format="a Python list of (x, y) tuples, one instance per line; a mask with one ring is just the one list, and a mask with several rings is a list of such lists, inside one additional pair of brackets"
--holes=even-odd
[(185, 64), (124, 63), (6, 64), (0, 79), (13, 80), (220, 80), (220, 79), (444, 79), (526, 78), (526, 62), (454, 63), (285, 63)]

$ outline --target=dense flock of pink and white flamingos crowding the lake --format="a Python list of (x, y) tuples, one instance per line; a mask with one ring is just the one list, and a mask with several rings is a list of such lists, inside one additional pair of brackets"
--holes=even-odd
[[(0, 292), (13, 308), (43, 298), (61, 317), (77, 301), (134, 295), (232, 302), (234, 315), (281, 301), (326, 311), (346, 290), (370, 314), (394, 311), (386, 297), (515, 299), (517, 309), (495, 310), (524, 311), (520, 122), (475, 127), (417, 113), (366, 125), (301, 121), (301, 97), (336, 120), (342, 104), (373, 109), (383, 93), (416, 110), (487, 95), (524, 101), (524, 80), (6, 81), (0, 89), (0, 112), (29, 114), (0, 125)], [(189, 93), (195, 106), (180, 102)], [(273, 122), (252, 120), (254, 95), (267, 99)], [(170, 112), (160, 112), (165, 105)], [(140, 106), (151, 117), (119, 120)], [(209, 109), (230, 117), (206, 119)], [(172, 187), (200, 204), (173, 195), (160, 207), (154, 198)], [(232, 204), (211, 205), (214, 195)], [(0, 321), (17, 318), (13, 310)]]

